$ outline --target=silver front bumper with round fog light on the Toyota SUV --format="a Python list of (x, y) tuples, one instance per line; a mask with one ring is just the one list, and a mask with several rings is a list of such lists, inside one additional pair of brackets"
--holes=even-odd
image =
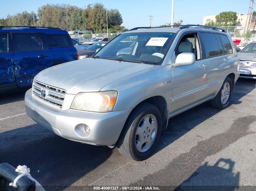
[[(63, 138), (92, 145), (115, 144), (132, 109), (108, 113), (73, 109), (60, 111), (35, 100), (32, 89), (25, 94), (26, 113), (35, 122)], [(84, 124), (90, 127), (90, 134), (85, 132)]]

